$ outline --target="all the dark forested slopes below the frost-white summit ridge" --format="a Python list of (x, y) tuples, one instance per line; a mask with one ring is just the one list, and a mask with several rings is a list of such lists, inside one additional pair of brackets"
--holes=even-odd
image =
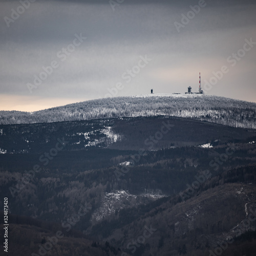
[[(160, 148), (150, 150), (144, 144), (142, 152), (144, 138), (161, 131), (163, 121), (172, 121), (173, 130), (158, 140)], [(129, 138), (122, 146), (117, 141), (107, 147), (69, 145), (85, 138), (83, 132), (100, 136), (90, 134), (90, 129), (101, 130), (100, 125), (110, 123), (113, 133), (119, 129)], [(80, 131), (84, 127), (90, 131)], [(129, 135), (132, 127), (134, 137)], [(255, 223), (245, 228), (241, 222), (256, 207), (254, 130), (174, 117), (2, 125), (1, 129), (5, 143), (18, 147), (24, 136), (41, 145), (27, 153), (0, 154), (1, 194), (9, 198), (9, 213), (17, 216), (10, 224), (15, 230), (15, 251), (27, 236), (33, 236), (20, 255), (37, 253), (56, 230), (65, 237), (49, 255), (203, 256), (230, 236), (234, 242), (227, 255), (236, 252), (236, 246), (253, 255)], [(189, 137), (197, 142), (201, 134), (209, 143), (162, 148), (165, 139), (180, 141), (179, 132), (188, 142)], [(136, 142), (139, 136), (142, 139)], [(55, 154), (58, 138), (67, 148)], [(131, 145), (134, 150), (127, 149)], [(239, 233), (232, 231), (236, 226)], [(26, 232), (24, 239), (16, 236), (22, 232)], [(141, 238), (145, 232), (147, 237)], [(143, 240), (133, 245), (137, 238)]]

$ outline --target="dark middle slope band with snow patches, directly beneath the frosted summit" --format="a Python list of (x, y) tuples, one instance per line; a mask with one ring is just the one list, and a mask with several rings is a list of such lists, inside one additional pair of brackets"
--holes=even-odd
[(55, 147), (60, 138), (66, 141), (62, 151), (78, 151), (88, 148), (159, 150), (235, 142), (253, 136), (256, 136), (254, 130), (167, 116), (10, 124), (0, 125), (0, 152), (44, 153)]

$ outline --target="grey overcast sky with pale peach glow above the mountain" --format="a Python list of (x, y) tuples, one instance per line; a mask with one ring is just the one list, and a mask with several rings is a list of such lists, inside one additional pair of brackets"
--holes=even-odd
[(0, 110), (196, 92), (199, 72), (205, 94), (256, 102), (255, 13), (255, 0), (2, 0)]

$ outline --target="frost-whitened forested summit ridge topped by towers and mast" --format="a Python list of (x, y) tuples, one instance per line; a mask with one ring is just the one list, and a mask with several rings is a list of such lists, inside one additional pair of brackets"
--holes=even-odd
[(0, 124), (45, 123), (138, 116), (177, 116), (256, 129), (256, 103), (198, 94), (103, 98), (36, 111), (0, 111)]

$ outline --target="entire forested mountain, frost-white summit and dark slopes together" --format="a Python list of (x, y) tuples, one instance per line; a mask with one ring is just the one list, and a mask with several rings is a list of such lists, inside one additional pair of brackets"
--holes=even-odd
[[(10, 251), (204, 256), (221, 248), (222, 255), (254, 255), (254, 103), (155, 95), (81, 102), (23, 118), (37, 119), (0, 125)], [(90, 120), (53, 122), (62, 118)]]

